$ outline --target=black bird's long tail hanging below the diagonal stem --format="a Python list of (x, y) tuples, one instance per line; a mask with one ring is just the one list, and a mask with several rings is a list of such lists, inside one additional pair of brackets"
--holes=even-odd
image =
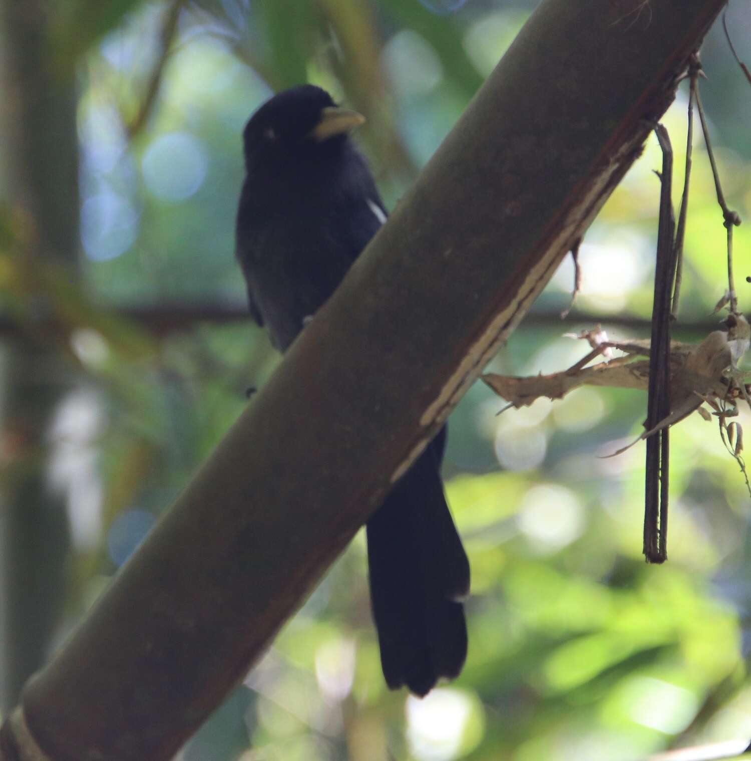
[(368, 521), (371, 603), (391, 689), (425, 695), (466, 658), (460, 602), (469, 561), (446, 504), (439, 468), (445, 429)]

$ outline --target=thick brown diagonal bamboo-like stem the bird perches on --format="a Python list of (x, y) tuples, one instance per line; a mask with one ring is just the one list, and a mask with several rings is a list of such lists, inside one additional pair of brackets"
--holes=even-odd
[(520, 322), (723, 5), (539, 5), (342, 287), (27, 686), (5, 758), (159, 761), (180, 747)]

